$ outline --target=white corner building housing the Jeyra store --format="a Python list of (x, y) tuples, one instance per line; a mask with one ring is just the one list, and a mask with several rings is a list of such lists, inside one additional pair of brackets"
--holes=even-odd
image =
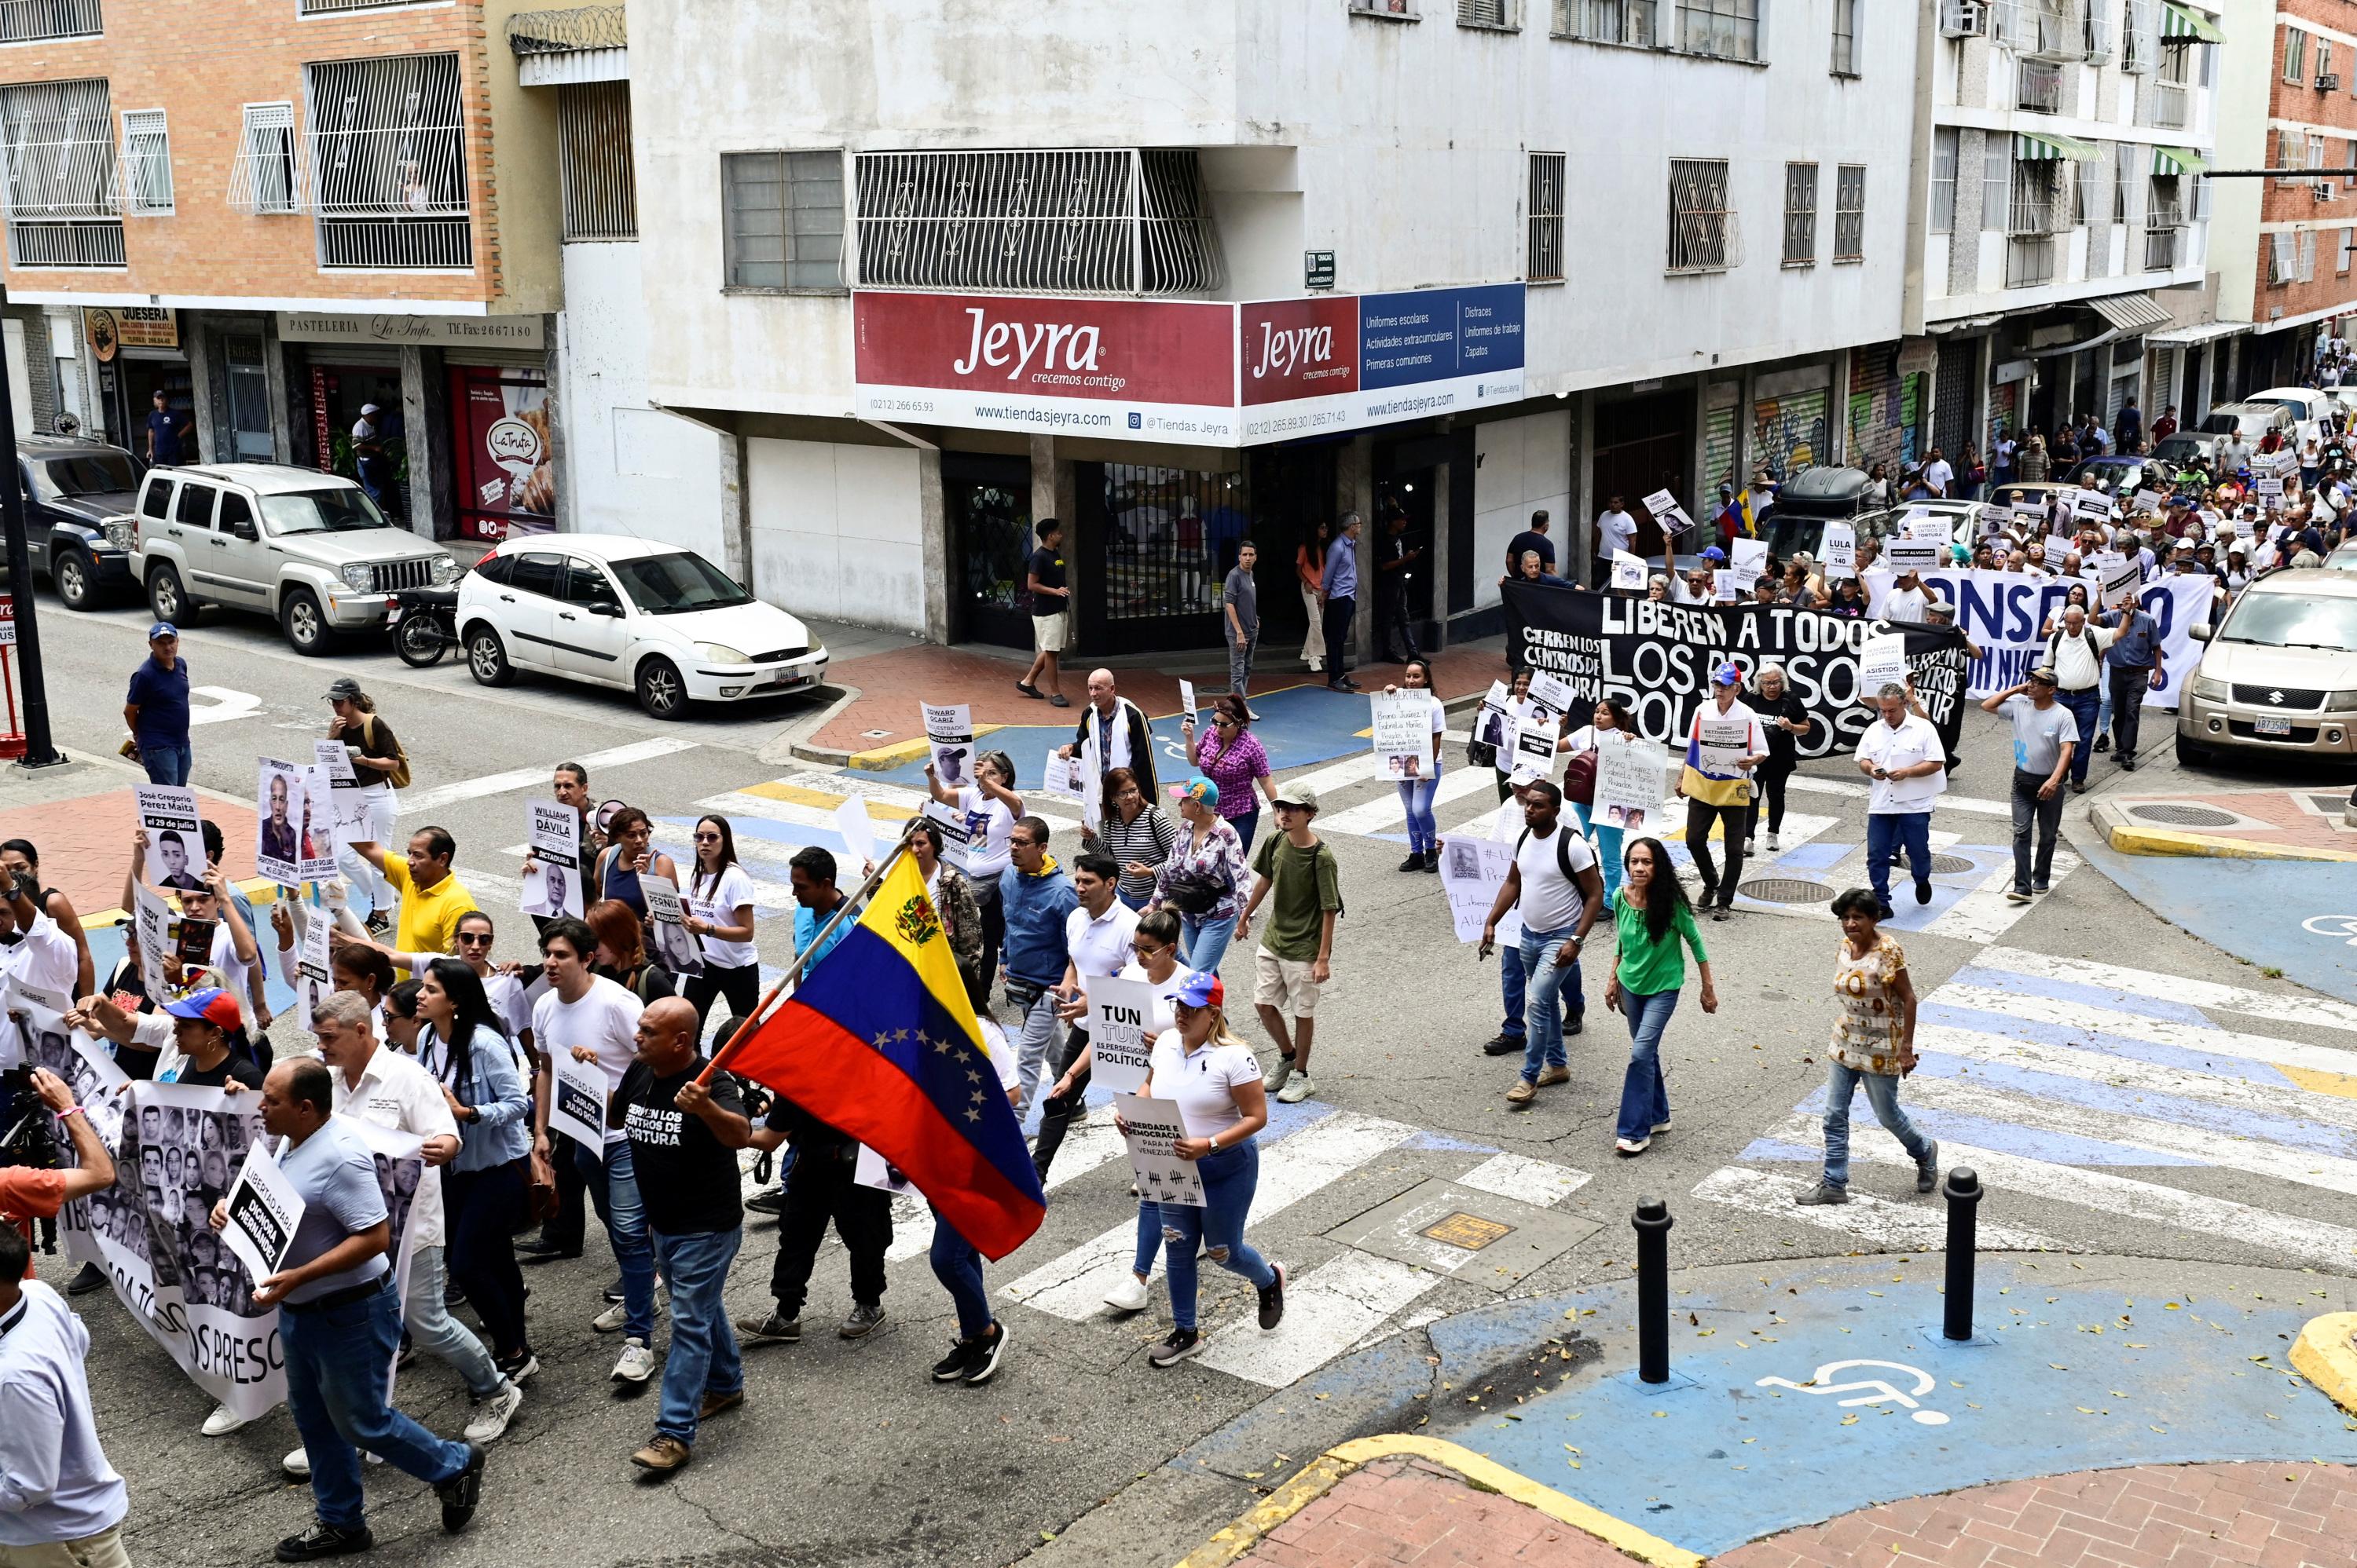
[(1532, 509), (1584, 556), (1612, 492), (1914, 454), (1919, 49), (1864, 0), (646, 0), (646, 398), (797, 612), (1028, 643), (1056, 516), (1082, 650), (1209, 643), (1249, 532), (1275, 652), (1358, 509), (1471, 629)]

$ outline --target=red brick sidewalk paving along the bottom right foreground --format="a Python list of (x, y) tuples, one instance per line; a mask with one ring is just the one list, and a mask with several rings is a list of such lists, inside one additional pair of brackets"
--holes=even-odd
[[(1926, 1476), (1926, 1481), (1937, 1481)], [(1657, 1526), (1659, 1521), (1640, 1521)], [(1268, 1568), (1603, 1568), (1631, 1559), (1424, 1460), (1376, 1460), (1263, 1535)], [(2350, 1568), (2357, 1467), (2180, 1464), (1914, 1497), (1737, 1547), (1711, 1568)]]

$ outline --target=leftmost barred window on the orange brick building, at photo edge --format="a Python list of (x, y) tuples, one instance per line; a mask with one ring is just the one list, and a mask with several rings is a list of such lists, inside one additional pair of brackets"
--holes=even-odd
[(0, 87), (16, 266), (123, 266), (115, 115), (104, 80)]

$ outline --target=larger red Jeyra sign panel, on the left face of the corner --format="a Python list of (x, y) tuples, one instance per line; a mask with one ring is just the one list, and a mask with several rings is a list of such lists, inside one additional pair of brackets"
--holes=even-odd
[(1167, 299), (856, 294), (860, 386), (1233, 407), (1235, 313)]

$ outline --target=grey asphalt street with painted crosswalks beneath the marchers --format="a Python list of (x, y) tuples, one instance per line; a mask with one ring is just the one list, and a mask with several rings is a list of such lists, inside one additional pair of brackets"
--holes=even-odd
[[(130, 607), (75, 617), (45, 596), (52, 720), (68, 753), (113, 753), (146, 619)], [(530, 956), (507, 848), (523, 841), (523, 803), (544, 793), (554, 763), (679, 742), (592, 768), (596, 796), (646, 805), (658, 819), (688, 819), (717, 796), (792, 805), (827, 786), (808, 765), (761, 760), (764, 749), (778, 756), (773, 742), (801, 713), (794, 706), (658, 727), (622, 692), (533, 678), (490, 692), (457, 664), (410, 671), (379, 645), (302, 659), (269, 624), (240, 619), (189, 631), (184, 655), (196, 685), (217, 687), (200, 695), (219, 704), (196, 730), (193, 782), (243, 798), (257, 756), (299, 756), (323, 727), (328, 680), (358, 676), (412, 758), (403, 826), (441, 822), (457, 836), (460, 876), (500, 918), (502, 958)], [(912, 704), (922, 697), (907, 692)], [(2357, 1191), (2357, 1076), (2348, 1076), (2357, 1008), (2319, 1003), (2197, 942), (2072, 855), (2051, 895), (2027, 911), (2003, 904), (1992, 881), (2011, 864), (2011, 841), (1989, 803), (2001, 800), (2008, 746), (1975, 711), (1961, 751), (1956, 803), (1933, 824), (1945, 857), (1937, 897), (1916, 909), (1902, 883), (1893, 930), (1926, 998), (1935, 1031), (1926, 1043), (1942, 1052), (1907, 1097), (1926, 1130), (1985, 1165), (1992, 1196), (1980, 1220), (1992, 1245), (2357, 1274), (2357, 1229), (2345, 1229)], [(1461, 765), (1461, 746), (1450, 756)], [(2098, 770), (2114, 775), (2102, 760)], [(0, 779), (0, 824), (21, 789), (14, 772)], [(519, 777), (502, 786), (497, 775), (509, 772)], [(493, 1450), (474, 1528), (445, 1540), (422, 1486), (372, 1469), (375, 1561), (1009, 1563), (1247, 1413), (1277, 1439), (1285, 1462), (1308, 1457), (1327, 1436), (1318, 1410), (1303, 1396), (1301, 1446), (1287, 1446), (1275, 1410), (1287, 1389), (1355, 1347), (1405, 1335), (1400, 1363), (1421, 1373), (1428, 1323), (1504, 1297), (1624, 1281), (1629, 1215), (1645, 1196), (1676, 1212), (1678, 1267), (1935, 1245), (1940, 1210), (1916, 1198), (1909, 1168), (1890, 1163), (1895, 1144), (1871, 1130), (1864, 1104), (1855, 1184), (1867, 1201), (1791, 1205), (1815, 1177), (1813, 1095), (1834, 1012), (1838, 928), (1820, 899), (1862, 881), (1864, 791), (1853, 768), (1805, 768), (1777, 864), (1747, 871), (1770, 897), (1747, 897), (1730, 923), (1704, 925), (1721, 1005), (1704, 1015), (1690, 982), (1664, 1050), (1676, 1128), (1636, 1161), (1612, 1154), (1626, 1029), (1600, 1005), (1603, 975), (1591, 975), (1586, 1029), (1570, 1041), (1572, 1081), (1527, 1111), (1511, 1109), (1513, 1062), (1480, 1055), (1499, 1026), (1497, 968), (1457, 944), (1440, 878), (1393, 869), (1402, 826), (1391, 786), (1360, 758), (1301, 772), (1325, 786), (1322, 829), (1341, 857), (1348, 916), (1318, 1015), (1318, 1095), (1280, 1118), (1263, 1154), (1254, 1238), (1296, 1281), (1296, 1321), (1282, 1335), (1263, 1342), (1249, 1323), (1249, 1288), (1207, 1274), (1211, 1354), (1153, 1370), (1143, 1351), (1167, 1328), (1160, 1290), (1136, 1318), (1094, 1304), (1108, 1257), (1127, 1253), (1134, 1215), (1110, 1116), (1096, 1111), (1056, 1168), (1042, 1231), (990, 1269), (1011, 1333), (995, 1384), (926, 1380), (952, 1314), (922, 1253), (893, 1262), (884, 1328), (860, 1344), (837, 1340), (832, 1323), (851, 1302), (841, 1250), (830, 1245), (806, 1309), (818, 1333), (750, 1351), (745, 1408), (707, 1427), (684, 1474), (643, 1483), (627, 1455), (648, 1436), (651, 1408), (615, 1394), (606, 1373), (618, 1344), (589, 1330), (610, 1278), (592, 1227), (585, 1260), (530, 1271), (544, 1370)], [(783, 793), (745, 793), (780, 779), (790, 779)], [(877, 798), (879, 786), (858, 784)], [(1487, 777), (1454, 793), (1450, 784), (1442, 831), (1485, 831)], [(431, 810), (415, 810), (420, 800)], [(797, 822), (780, 810), (768, 848), (830, 843)], [(684, 841), (676, 826), (660, 836)], [(1056, 852), (1075, 850), (1077, 836), (1058, 833)], [(752, 869), (783, 892), (783, 859)], [(766, 963), (790, 958), (783, 904), (761, 909)], [(1240, 944), (1226, 963), (1230, 991), (1249, 986), (1249, 972)], [(290, 1026), (278, 1034), (285, 1050)], [(1242, 1034), (1263, 1043), (1249, 1019)], [(1386, 1229), (1400, 1210), (1386, 1205), (1435, 1182), (1447, 1184), (1433, 1189), (1447, 1203), (1433, 1212), (1454, 1205), (1475, 1227), (1497, 1217), (1537, 1238), (1534, 1250), (1516, 1255), (1518, 1238), (1450, 1264), (1402, 1253), (1395, 1241), (1407, 1231)], [(1483, 1208), (1492, 1198), (1516, 1208), (1492, 1215)], [(766, 1304), (771, 1250), (773, 1227), (752, 1222), (735, 1311)], [(82, 1297), (82, 1311), (101, 1431), (132, 1483), (139, 1561), (259, 1561), (269, 1542), (302, 1528), (309, 1490), (278, 1476), (278, 1455), (295, 1443), (283, 1413), (226, 1439), (198, 1436), (207, 1408), (198, 1389), (106, 1297)], [(398, 1401), (441, 1431), (464, 1422), (462, 1389), (434, 1363), (403, 1373)], [(1270, 1474), (1282, 1469), (1273, 1462)], [(1197, 1514), (1141, 1511), (1120, 1547), (1089, 1561), (1174, 1561), (1221, 1516)]]

